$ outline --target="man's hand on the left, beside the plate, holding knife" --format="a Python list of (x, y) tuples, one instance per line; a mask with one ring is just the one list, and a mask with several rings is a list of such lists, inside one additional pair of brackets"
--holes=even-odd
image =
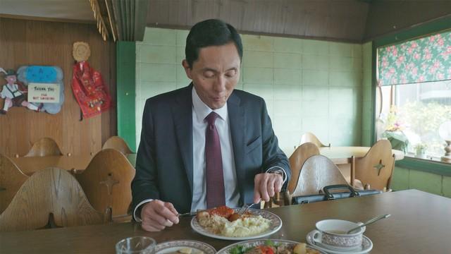
[(178, 224), (178, 212), (170, 202), (152, 200), (142, 207), (141, 227), (145, 231), (161, 231)]

